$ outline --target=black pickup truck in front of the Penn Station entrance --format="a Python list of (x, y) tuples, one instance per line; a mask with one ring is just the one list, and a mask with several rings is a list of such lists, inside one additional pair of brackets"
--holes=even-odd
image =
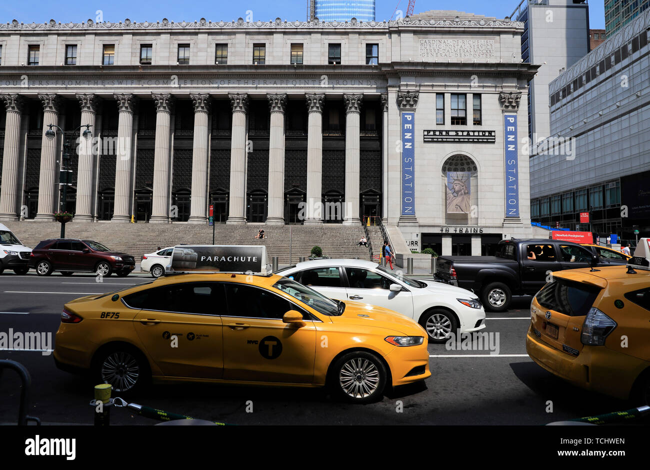
[(599, 256), (593, 247), (561, 240), (501, 240), (496, 256), (439, 256), (435, 279), (473, 290), (486, 309), (508, 309), (512, 296), (533, 296), (551, 271), (626, 264)]

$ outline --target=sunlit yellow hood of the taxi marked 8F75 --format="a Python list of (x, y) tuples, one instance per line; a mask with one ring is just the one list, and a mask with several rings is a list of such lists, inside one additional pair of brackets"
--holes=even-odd
[(417, 322), (395, 311), (367, 303), (345, 301), (341, 316), (330, 316), (333, 323), (374, 326), (390, 329), (404, 336), (424, 336), (426, 332)]

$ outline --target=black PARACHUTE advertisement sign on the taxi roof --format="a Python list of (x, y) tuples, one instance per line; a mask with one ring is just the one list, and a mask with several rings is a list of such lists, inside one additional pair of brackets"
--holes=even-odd
[(259, 245), (181, 245), (174, 247), (170, 272), (268, 273), (266, 247)]

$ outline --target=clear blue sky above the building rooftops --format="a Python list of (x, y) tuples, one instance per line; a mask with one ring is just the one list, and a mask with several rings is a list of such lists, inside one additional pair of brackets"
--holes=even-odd
[[(95, 20), (97, 10), (101, 10), (104, 21), (194, 21), (237, 20), (246, 18), (247, 10), (252, 11), (253, 20), (272, 20), (278, 16), (283, 20), (305, 20), (307, 18), (307, 0), (240, 0), (240, 1), (168, 1), (168, 0), (2, 0), (0, 5), (0, 22), (6, 23), (14, 18), (23, 23), (44, 23), (51, 18), (62, 21)], [(376, 0), (377, 20), (391, 18), (395, 7), (406, 14), (408, 0)], [(519, 1), (454, 0), (435, 1), (417, 0), (415, 13), (426, 10), (459, 10), (504, 18), (512, 14)], [(604, 29), (603, 0), (594, 0), (589, 5), (590, 27)]]

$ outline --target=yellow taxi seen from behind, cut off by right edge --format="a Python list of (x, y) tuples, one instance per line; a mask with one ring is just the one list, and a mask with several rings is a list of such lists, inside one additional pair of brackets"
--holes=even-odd
[(639, 240), (627, 266), (554, 272), (530, 317), (526, 352), (538, 365), (584, 389), (650, 405), (649, 239)]

